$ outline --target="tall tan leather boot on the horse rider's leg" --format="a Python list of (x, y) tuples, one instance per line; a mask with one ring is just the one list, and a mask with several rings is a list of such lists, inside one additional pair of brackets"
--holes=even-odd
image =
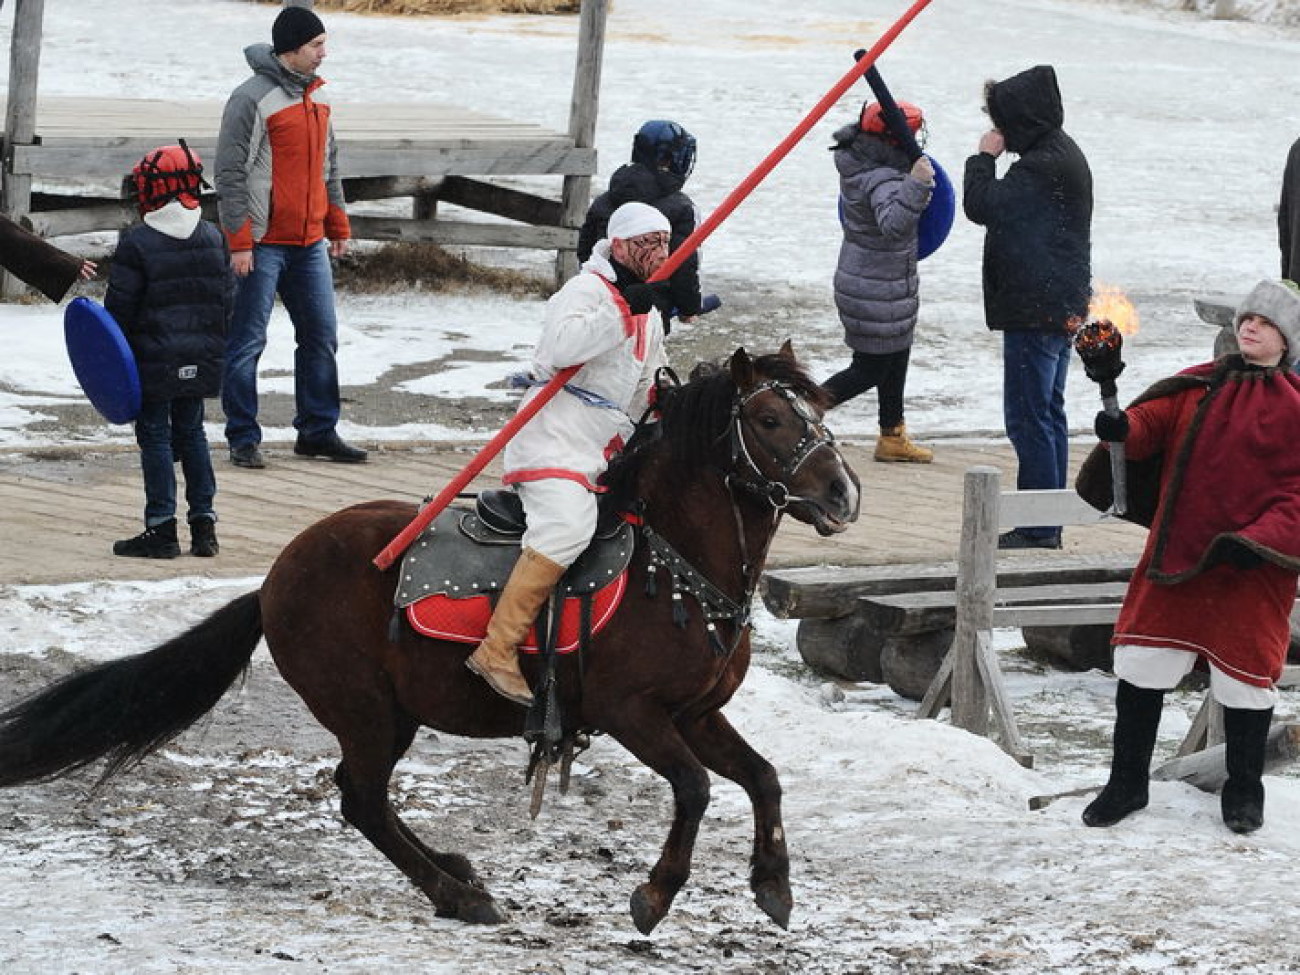
[(488, 620), (488, 634), (465, 660), (465, 667), (488, 681), (488, 686), (516, 705), (533, 703), (533, 692), (519, 670), (519, 645), (564, 568), (538, 551), (524, 549)]

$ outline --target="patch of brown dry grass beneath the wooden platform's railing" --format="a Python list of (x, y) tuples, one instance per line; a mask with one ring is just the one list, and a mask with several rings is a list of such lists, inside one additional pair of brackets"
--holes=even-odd
[(536, 274), (474, 264), (432, 243), (389, 243), (352, 251), (338, 263), (334, 283), (354, 294), (490, 290), (519, 298), (549, 298), (555, 290), (551, 281)]

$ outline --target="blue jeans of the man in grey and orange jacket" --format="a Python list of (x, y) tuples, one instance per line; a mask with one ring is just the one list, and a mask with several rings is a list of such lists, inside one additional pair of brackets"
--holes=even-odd
[(226, 333), (221, 408), (231, 447), (261, 443), (257, 425), (257, 360), (266, 347), (266, 324), (276, 295), (294, 324), (294, 426), (318, 439), (338, 424), (338, 321), (329, 243), (309, 247), (257, 244), (252, 270), (239, 282)]

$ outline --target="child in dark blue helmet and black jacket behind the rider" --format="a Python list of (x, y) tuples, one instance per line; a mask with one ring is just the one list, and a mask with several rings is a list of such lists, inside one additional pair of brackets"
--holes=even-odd
[[(668, 218), (676, 251), (699, 224), (699, 212), (681, 187), (696, 165), (696, 138), (676, 122), (653, 120), (637, 130), (632, 140), (632, 161), (619, 166), (610, 177), (610, 188), (593, 202), (577, 238), (577, 259), (585, 263), (598, 240), (606, 237), (610, 214), (624, 203), (647, 203)], [(668, 278), (668, 295), (663, 302), (664, 334), (676, 308), (681, 321), (690, 321), (701, 311), (699, 252), (692, 254)]]

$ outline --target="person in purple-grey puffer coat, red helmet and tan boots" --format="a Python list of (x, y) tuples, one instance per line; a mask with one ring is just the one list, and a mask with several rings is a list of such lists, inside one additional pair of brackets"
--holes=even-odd
[[(906, 101), (898, 108), (918, 133), (924, 124), (920, 109)], [(933, 451), (911, 442), (902, 400), (920, 307), (918, 226), (935, 188), (935, 168), (924, 156), (909, 162), (876, 101), (864, 104), (858, 121), (835, 134), (835, 143), (844, 228), (835, 307), (853, 361), (822, 385), (832, 404), (875, 387), (880, 419), (875, 459), (928, 464)]]

